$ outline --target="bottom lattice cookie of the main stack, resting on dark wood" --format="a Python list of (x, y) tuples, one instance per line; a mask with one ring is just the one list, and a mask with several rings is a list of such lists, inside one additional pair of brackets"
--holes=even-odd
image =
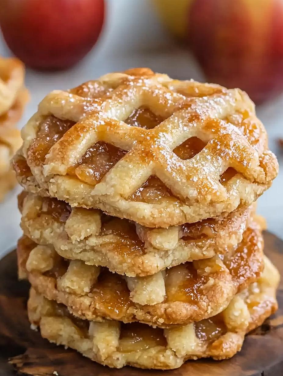
[(65, 306), (31, 289), (28, 302), (32, 327), (50, 342), (76, 349), (109, 367), (177, 368), (187, 359), (227, 359), (241, 350), (245, 334), (277, 309), (277, 269), (265, 258), (257, 282), (237, 294), (224, 312), (185, 326), (150, 328), (141, 323), (80, 320)]

